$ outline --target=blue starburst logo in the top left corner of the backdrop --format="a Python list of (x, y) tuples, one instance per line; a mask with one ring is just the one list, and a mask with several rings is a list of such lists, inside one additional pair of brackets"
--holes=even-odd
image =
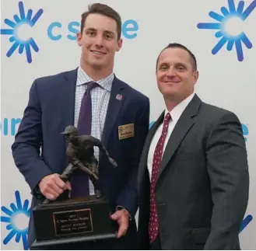
[(32, 9), (29, 9), (27, 13), (25, 13), (23, 2), (19, 2), (19, 16), (14, 15), (13, 21), (10, 19), (5, 19), (4, 22), (6, 25), (11, 27), (11, 29), (1, 29), (2, 35), (9, 35), (9, 41), (12, 43), (9, 51), (7, 52), (6, 56), (9, 58), (12, 56), (14, 51), (19, 47), (19, 54), (23, 54), (24, 49), (26, 51), (26, 61), (30, 64), (32, 62), (32, 54), (31, 49), (33, 51), (38, 52), (39, 47), (37, 46), (35, 40), (32, 37), (23, 40), (19, 38), (17, 31), (21, 26), (24, 24), (33, 27), (37, 20), (43, 13), (43, 9), (39, 9), (37, 13), (33, 16)]

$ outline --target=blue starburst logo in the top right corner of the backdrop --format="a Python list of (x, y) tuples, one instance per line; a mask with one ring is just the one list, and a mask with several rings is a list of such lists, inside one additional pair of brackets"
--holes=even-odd
[(244, 22), (248, 16), (250, 16), (251, 12), (256, 7), (256, 0), (251, 2), (251, 4), (244, 9), (244, 1), (240, 1), (236, 6), (234, 4), (234, 0), (228, 0), (229, 9), (226, 7), (222, 7), (220, 11), (221, 14), (216, 12), (209, 12), (209, 16), (212, 19), (218, 21), (218, 23), (198, 23), (198, 29), (206, 29), (206, 30), (218, 30), (215, 34), (217, 38), (220, 38), (219, 42), (212, 49), (212, 54), (217, 54), (219, 50), (227, 43), (226, 50), (231, 51), (233, 49), (233, 45), (235, 44), (237, 51), (237, 59), (238, 61), (244, 60), (243, 47), (242, 44), (245, 45), (248, 49), (251, 49), (252, 44), (247, 35), (244, 32), (240, 32), (238, 34), (231, 34), (226, 30), (226, 23), (230, 21), (230, 19), (240, 19), (241, 22)]

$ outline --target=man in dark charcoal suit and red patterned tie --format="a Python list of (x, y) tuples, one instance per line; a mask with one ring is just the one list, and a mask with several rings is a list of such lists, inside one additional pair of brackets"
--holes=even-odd
[(166, 108), (139, 165), (139, 249), (239, 249), (249, 175), (240, 121), (195, 94), (195, 55), (169, 44), (156, 62)]

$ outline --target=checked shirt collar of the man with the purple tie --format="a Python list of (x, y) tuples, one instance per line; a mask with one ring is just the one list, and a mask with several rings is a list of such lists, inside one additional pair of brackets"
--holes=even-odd
[(114, 80), (114, 72), (112, 72), (106, 78), (102, 78), (98, 81), (94, 81), (93, 78), (90, 78), (89, 75), (86, 74), (86, 71), (82, 70), (81, 66), (79, 66), (77, 70), (77, 80), (76, 80), (77, 86), (85, 85), (87, 82), (94, 81), (98, 85), (100, 85), (103, 89), (106, 89), (108, 92), (110, 92), (113, 80)]

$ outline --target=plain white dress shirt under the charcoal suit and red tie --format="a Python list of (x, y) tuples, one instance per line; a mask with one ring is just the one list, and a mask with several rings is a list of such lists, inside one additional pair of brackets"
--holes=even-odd
[[(188, 104), (191, 102), (191, 99), (193, 99), (194, 96), (195, 96), (195, 92), (193, 92), (191, 94), (191, 96), (188, 96), (188, 98), (184, 99), (177, 106), (175, 106), (174, 109), (171, 110), (170, 112), (167, 110), (167, 108), (165, 109), (164, 117), (167, 115), (167, 113), (170, 113), (171, 119), (170, 119), (170, 122), (169, 122), (168, 131), (167, 131), (167, 138), (166, 138), (166, 140), (164, 141), (164, 144), (163, 144), (163, 153), (165, 151), (165, 148), (167, 147), (167, 142), (169, 141), (170, 134), (172, 133), (172, 131), (174, 131), (174, 127), (177, 124), (177, 121), (179, 120), (179, 118), (181, 117), (181, 114), (184, 112), (185, 108), (188, 106)], [(155, 152), (155, 149), (156, 149), (157, 142), (159, 141), (159, 139), (161, 137), (162, 130), (163, 130), (163, 123), (160, 124), (160, 126), (156, 129), (156, 133), (153, 136), (153, 139), (152, 139), (151, 144), (149, 146), (148, 169), (149, 169), (149, 178), (150, 178), (150, 180), (151, 180), (154, 152)], [(163, 157), (163, 154), (162, 154), (162, 157)]]

